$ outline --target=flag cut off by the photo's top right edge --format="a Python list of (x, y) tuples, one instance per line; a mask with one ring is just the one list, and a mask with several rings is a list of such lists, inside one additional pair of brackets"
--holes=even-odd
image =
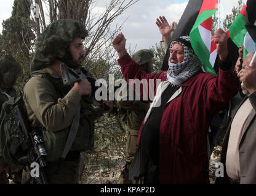
[(248, 53), (251, 53), (256, 48), (256, 1), (248, 0), (246, 7), (246, 30), (247, 34), (244, 37), (244, 58)]

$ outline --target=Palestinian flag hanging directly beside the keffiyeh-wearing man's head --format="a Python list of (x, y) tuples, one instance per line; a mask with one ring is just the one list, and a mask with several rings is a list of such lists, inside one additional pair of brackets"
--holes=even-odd
[(191, 45), (207, 73), (217, 75), (210, 63), (212, 15), (218, 9), (218, 0), (204, 0), (191, 32)]

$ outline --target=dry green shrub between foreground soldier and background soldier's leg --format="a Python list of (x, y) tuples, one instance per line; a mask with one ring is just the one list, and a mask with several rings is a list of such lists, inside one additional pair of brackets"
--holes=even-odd
[(84, 153), (82, 183), (106, 183), (117, 179), (126, 156), (126, 134), (118, 116), (104, 115), (95, 123), (95, 150)]

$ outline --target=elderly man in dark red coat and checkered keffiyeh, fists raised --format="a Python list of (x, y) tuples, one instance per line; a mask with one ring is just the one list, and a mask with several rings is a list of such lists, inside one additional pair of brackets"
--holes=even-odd
[(202, 72), (188, 36), (172, 40), (169, 70), (161, 74), (146, 74), (132, 61), (122, 33), (113, 39), (126, 80), (153, 79), (154, 87), (157, 79), (162, 81), (140, 128), (131, 179), (145, 176), (145, 183), (209, 183), (210, 119), (238, 92), (222, 29), (215, 32), (215, 42), (220, 56), (217, 77)]

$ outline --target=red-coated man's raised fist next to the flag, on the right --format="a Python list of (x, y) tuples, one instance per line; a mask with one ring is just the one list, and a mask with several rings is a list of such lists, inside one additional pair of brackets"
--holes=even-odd
[(214, 37), (220, 61), (225, 62), (228, 59), (228, 35), (222, 29), (217, 29)]

